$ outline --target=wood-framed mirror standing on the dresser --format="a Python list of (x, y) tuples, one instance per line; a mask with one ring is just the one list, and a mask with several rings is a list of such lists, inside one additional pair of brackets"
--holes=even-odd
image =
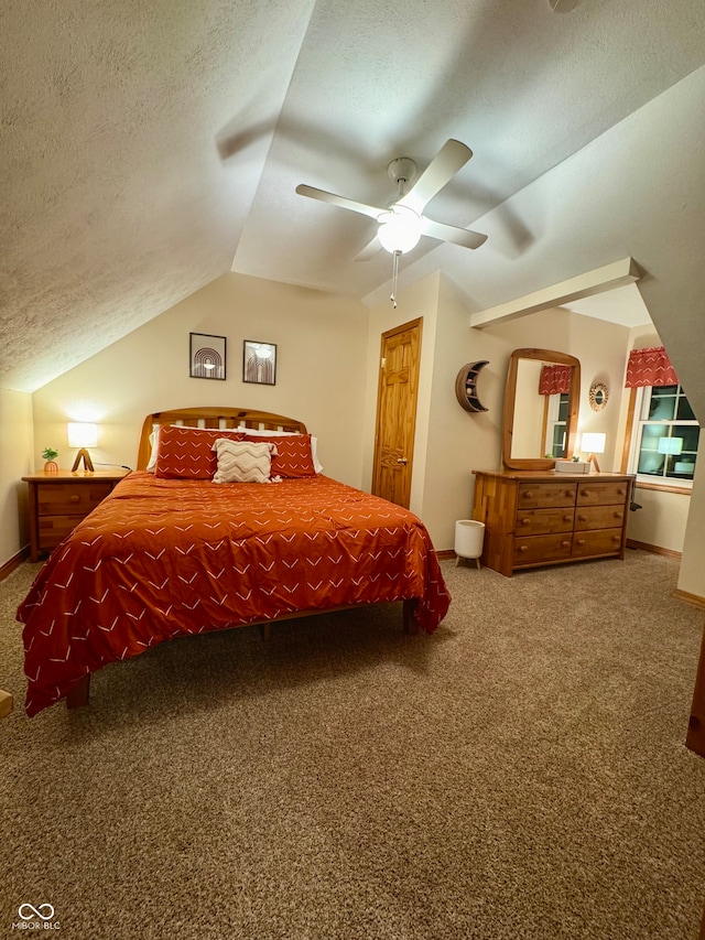
[[(540, 392), (540, 382), (546, 391)], [(549, 388), (556, 391), (547, 393)], [(552, 469), (556, 458), (570, 457), (579, 397), (581, 363), (575, 356), (553, 349), (514, 349), (502, 412), (505, 466), (544, 471)], [(546, 453), (552, 456), (546, 457)]]

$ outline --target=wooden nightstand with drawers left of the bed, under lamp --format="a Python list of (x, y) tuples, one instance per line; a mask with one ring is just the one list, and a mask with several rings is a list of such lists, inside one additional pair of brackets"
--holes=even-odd
[(30, 487), (31, 560), (39, 561), (42, 552), (55, 549), (128, 473), (59, 471), (23, 476)]

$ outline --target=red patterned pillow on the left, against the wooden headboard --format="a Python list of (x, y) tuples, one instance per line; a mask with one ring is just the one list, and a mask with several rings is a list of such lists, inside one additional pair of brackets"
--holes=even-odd
[(154, 476), (167, 479), (213, 479), (218, 469), (218, 455), (213, 445), (218, 437), (245, 440), (240, 431), (162, 424), (159, 429)]

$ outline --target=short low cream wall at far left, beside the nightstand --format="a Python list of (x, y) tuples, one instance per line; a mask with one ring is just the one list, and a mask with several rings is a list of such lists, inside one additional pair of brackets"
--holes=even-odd
[(0, 389), (0, 566), (29, 543), (26, 484), (34, 469), (32, 396)]

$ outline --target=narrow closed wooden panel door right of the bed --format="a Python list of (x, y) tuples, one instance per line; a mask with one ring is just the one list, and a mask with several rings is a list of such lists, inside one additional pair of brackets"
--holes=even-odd
[(372, 493), (409, 508), (423, 320), (382, 334)]

